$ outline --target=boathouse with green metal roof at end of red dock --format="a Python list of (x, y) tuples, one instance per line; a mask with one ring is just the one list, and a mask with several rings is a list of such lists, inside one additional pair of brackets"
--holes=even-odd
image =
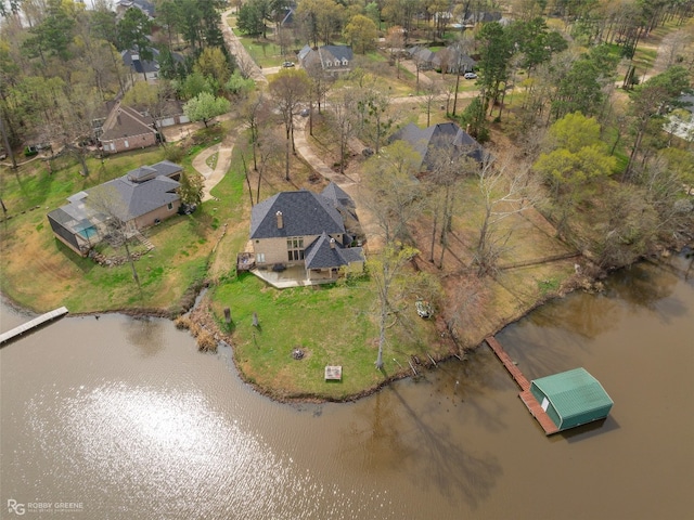
[(604, 419), (614, 404), (584, 368), (535, 379), (530, 392), (560, 431)]

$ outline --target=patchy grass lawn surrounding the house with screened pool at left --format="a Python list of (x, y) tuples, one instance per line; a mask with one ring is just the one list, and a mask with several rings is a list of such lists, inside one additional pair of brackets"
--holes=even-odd
[[(197, 134), (193, 153), (216, 142), (221, 131)], [(210, 250), (220, 234), (218, 227), (234, 214), (232, 206), (210, 200), (194, 214), (175, 216), (145, 230), (155, 248), (134, 262), (140, 288), (129, 264), (100, 266), (80, 258), (53, 236), (46, 218), (46, 213), (66, 204), (69, 195), (162, 159), (162, 147), (117, 154), (103, 164), (92, 158), (87, 177), (78, 173), (78, 164), (68, 157), (54, 160), (52, 173), (43, 160), (16, 171), (0, 169), (2, 199), (9, 209), (0, 235), (2, 292), (35, 311), (64, 304), (73, 313), (132, 308), (179, 312), (188, 288), (205, 278)], [(181, 162), (190, 168), (191, 160), (192, 155), (188, 155)], [(237, 179), (236, 183), (241, 185), (242, 181)], [(113, 253), (125, 256), (124, 250)]]

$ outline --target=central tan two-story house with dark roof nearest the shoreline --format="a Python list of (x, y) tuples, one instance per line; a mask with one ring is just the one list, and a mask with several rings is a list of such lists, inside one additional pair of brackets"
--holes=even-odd
[(250, 240), (258, 269), (300, 265), (311, 277), (333, 277), (340, 269), (361, 271), (363, 250), (343, 214), (354, 217), (349, 195), (331, 183), (322, 193), (280, 192), (254, 206)]

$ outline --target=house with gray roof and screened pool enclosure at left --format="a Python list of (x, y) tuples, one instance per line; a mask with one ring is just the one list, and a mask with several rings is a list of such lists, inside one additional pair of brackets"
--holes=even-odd
[(67, 197), (68, 204), (48, 213), (55, 237), (78, 255), (102, 242), (114, 219), (127, 233), (156, 224), (177, 213), (183, 168), (163, 160)]

